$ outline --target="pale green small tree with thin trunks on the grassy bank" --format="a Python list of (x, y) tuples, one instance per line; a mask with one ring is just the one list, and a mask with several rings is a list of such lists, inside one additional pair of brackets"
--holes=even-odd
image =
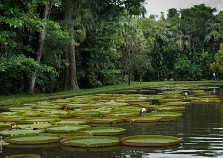
[(140, 29), (136, 19), (123, 19), (121, 23), (121, 51), (122, 66), (128, 75), (128, 84), (135, 73), (140, 81), (147, 70), (150, 69), (149, 42)]

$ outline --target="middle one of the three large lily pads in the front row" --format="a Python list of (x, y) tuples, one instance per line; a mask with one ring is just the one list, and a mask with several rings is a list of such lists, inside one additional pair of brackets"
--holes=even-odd
[(76, 147), (105, 147), (118, 145), (119, 143), (119, 138), (111, 136), (82, 136), (61, 141), (63, 145)]

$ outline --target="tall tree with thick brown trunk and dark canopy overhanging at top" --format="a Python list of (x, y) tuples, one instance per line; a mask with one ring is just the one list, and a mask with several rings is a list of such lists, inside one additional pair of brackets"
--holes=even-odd
[[(65, 51), (65, 60), (68, 61), (69, 66), (66, 67), (64, 71), (64, 87), (65, 89), (77, 89), (77, 76), (76, 76), (76, 59), (75, 59), (75, 38), (74, 34), (74, 26), (72, 20), (78, 21), (81, 19), (80, 16), (83, 11), (87, 10), (90, 14), (98, 16), (102, 19), (108, 17), (114, 17), (114, 15), (120, 16), (125, 11), (127, 11), (130, 15), (133, 14), (141, 14), (145, 10), (143, 10), (142, 3), (144, 0), (118, 0), (115, 2), (102, 1), (102, 0), (94, 0), (90, 3), (87, 1), (69, 1), (64, 0), (62, 6), (64, 8), (64, 19), (71, 21), (69, 25), (66, 25), (65, 29), (70, 34), (70, 44), (68, 45), (69, 49)], [(92, 7), (93, 6), (93, 7)], [(112, 12), (111, 12), (112, 11)], [(109, 15), (108, 15), (109, 14)], [(108, 15), (108, 16), (105, 16)], [(82, 22), (82, 21), (79, 21)]]

